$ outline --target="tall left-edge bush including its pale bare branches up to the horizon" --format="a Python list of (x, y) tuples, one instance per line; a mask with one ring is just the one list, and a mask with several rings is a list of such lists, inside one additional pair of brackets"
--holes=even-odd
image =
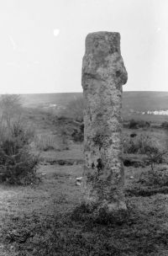
[(39, 156), (30, 152), (34, 131), (24, 125), (19, 100), (17, 95), (3, 95), (0, 99), (0, 180), (8, 184), (39, 180)]

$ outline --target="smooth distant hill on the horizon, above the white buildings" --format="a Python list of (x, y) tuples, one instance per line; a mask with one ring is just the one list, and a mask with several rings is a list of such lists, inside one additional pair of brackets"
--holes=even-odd
[[(82, 93), (22, 94), (23, 104), (28, 107), (60, 104), (66, 106)], [(135, 111), (168, 109), (168, 92), (123, 92), (123, 110)]]

